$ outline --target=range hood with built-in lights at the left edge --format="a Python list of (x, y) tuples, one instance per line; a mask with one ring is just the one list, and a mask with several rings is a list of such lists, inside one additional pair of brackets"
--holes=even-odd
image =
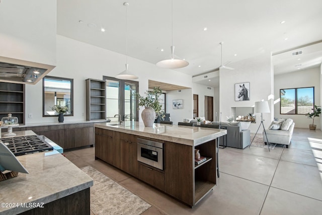
[(0, 82), (36, 84), (55, 66), (0, 56)]

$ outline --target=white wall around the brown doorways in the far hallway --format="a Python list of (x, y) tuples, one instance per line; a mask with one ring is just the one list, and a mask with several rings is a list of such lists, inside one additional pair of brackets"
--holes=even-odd
[[(208, 89), (210, 88), (210, 89)], [(193, 83), (192, 85), (192, 94), (198, 95), (198, 116), (203, 117), (205, 116), (205, 96), (211, 96), (214, 97), (213, 99), (213, 106), (214, 106), (214, 116), (213, 119), (215, 120), (215, 90), (213, 87), (200, 85)], [(193, 109), (193, 107), (192, 107)], [(193, 115), (193, 113), (192, 113)], [(193, 118), (191, 116), (187, 116), (185, 118)], [(206, 118), (207, 119), (207, 118)]]

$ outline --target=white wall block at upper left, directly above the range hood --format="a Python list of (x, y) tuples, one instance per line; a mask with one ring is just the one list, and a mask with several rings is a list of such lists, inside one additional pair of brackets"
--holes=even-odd
[(0, 56), (55, 65), (56, 6), (55, 0), (2, 1)]

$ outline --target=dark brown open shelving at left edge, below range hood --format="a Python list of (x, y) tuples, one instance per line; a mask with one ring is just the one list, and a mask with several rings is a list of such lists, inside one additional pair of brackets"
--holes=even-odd
[(8, 116), (18, 117), (18, 123), (25, 123), (25, 85), (0, 83), (0, 120)]

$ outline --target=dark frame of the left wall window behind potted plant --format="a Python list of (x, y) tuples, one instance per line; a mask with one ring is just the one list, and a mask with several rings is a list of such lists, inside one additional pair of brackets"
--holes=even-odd
[[(73, 79), (62, 78), (62, 77), (53, 77), (53, 76), (45, 76), (42, 79), (42, 116), (43, 117), (57, 117), (58, 115), (45, 115), (45, 79), (52, 80), (61, 80), (61, 81), (69, 81), (70, 82), (70, 113), (64, 114), (64, 116), (73, 116), (74, 115), (74, 85)], [(58, 99), (58, 98), (57, 98)]]

